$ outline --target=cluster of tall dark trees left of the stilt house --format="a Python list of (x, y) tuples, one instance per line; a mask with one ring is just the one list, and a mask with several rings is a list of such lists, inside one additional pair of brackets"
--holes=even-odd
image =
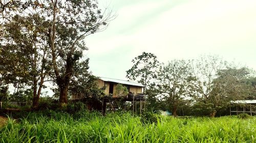
[(1, 1), (1, 100), (9, 84), (13, 97), (31, 94), (34, 108), (46, 82), (57, 85), (61, 106), (68, 102), (68, 91), (99, 94), (89, 59), (83, 57), (88, 50), (84, 38), (104, 30), (113, 18), (96, 0)]

